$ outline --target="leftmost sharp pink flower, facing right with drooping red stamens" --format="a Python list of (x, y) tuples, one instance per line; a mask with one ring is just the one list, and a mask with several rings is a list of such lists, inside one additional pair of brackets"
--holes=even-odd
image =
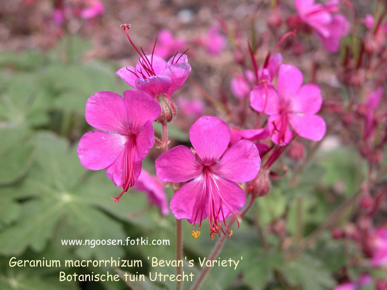
[(99, 130), (87, 132), (78, 144), (81, 164), (90, 170), (106, 168), (106, 175), (123, 190), (133, 186), (141, 163), (154, 144), (152, 122), (160, 106), (148, 94), (125, 90), (124, 98), (111, 91), (94, 93), (86, 102), (86, 121)]

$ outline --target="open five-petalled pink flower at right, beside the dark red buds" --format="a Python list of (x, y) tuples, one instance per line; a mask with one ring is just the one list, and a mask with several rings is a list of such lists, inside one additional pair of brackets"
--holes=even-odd
[(257, 86), (250, 94), (251, 107), (268, 114), (271, 140), (286, 145), (294, 133), (303, 138), (320, 141), (325, 135), (326, 124), (315, 115), (321, 107), (321, 91), (315, 84), (302, 85), (302, 73), (297, 67), (282, 64), (278, 71), (277, 90), (273, 86)]

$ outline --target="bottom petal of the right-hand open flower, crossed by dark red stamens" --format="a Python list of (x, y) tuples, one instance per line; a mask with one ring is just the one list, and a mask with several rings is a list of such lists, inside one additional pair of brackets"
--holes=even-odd
[[(273, 125), (275, 124), (275, 127)], [(287, 116), (283, 115), (272, 115), (268, 117), (268, 130), (270, 133), (270, 139), (275, 144), (286, 145), (290, 142), (293, 137), (292, 131), (289, 129), (289, 121)], [(278, 132), (278, 130), (280, 132)]]

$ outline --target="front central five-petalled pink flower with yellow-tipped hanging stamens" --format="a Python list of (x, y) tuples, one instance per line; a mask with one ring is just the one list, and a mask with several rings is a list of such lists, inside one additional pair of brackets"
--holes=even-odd
[[(208, 216), (210, 238), (222, 231), (231, 234), (226, 219), (243, 207), (246, 196), (237, 182), (252, 180), (261, 159), (257, 147), (240, 140), (230, 148), (230, 127), (220, 118), (203, 116), (189, 130), (196, 153), (179, 145), (156, 159), (157, 176), (166, 182), (187, 182), (173, 196), (170, 208), (177, 219), (193, 224), (198, 237), (202, 221)], [(238, 220), (237, 220), (238, 221)], [(222, 226), (222, 223), (224, 226)], [(195, 232), (195, 224), (199, 228)]]

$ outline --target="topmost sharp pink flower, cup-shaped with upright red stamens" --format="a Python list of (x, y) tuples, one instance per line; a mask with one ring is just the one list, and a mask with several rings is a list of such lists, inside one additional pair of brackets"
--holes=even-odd
[(130, 26), (122, 27), (140, 58), (135, 67), (122, 67), (117, 71), (117, 75), (129, 86), (145, 91), (155, 98), (159, 95), (172, 96), (174, 91), (184, 84), (191, 71), (187, 56), (176, 54), (167, 62), (155, 55), (154, 51), (151, 55), (145, 55), (130, 39), (128, 33)]

